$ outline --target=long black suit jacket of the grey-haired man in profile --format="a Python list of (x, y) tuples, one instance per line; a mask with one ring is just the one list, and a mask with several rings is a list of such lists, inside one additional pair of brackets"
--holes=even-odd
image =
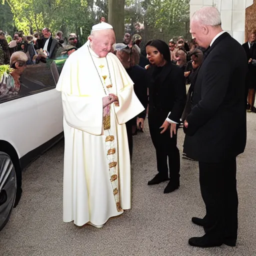
[(186, 118), (184, 152), (202, 162), (221, 162), (245, 147), (247, 59), (242, 46), (227, 32), (205, 55)]

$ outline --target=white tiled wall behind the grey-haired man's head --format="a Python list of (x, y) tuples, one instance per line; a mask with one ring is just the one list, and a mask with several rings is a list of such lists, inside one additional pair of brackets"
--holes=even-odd
[(190, 17), (202, 6), (215, 6), (221, 13), (222, 28), (238, 42), (244, 42), (245, 8), (253, 0), (190, 0)]

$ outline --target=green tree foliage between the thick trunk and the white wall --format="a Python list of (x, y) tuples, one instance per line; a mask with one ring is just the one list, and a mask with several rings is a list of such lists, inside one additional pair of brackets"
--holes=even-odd
[(144, 39), (186, 36), (189, 21), (189, 0), (127, 0), (125, 21), (131, 32), (135, 22), (142, 23)]

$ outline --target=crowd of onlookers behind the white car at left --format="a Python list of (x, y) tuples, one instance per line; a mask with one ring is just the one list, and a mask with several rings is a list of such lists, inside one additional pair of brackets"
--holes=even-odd
[(77, 49), (77, 36), (65, 40), (58, 31), (52, 35), (45, 27), (40, 33), (24, 35), (18, 31), (11, 38), (0, 30), (0, 98), (13, 97), (20, 91), (20, 76), (26, 65), (46, 63), (47, 59), (68, 57)]

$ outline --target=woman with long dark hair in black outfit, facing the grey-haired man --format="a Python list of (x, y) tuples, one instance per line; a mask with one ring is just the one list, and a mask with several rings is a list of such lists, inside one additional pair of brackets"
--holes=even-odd
[[(184, 73), (170, 62), (168, 45), (161, 40), (146, 44), (149, 87), (148, 124), (156, 151), (158, 173), (148, 185), (169, 180), (164, 193), (179, 187), (180, 157), (177, 144), (177, 128), (186, 102)], [(167, 159), (169, 169), (167, 166)]]

